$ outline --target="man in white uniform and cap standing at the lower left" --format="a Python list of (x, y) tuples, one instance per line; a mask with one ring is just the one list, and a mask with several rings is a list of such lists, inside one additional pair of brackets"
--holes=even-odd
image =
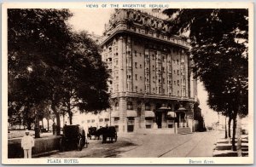
[(21, 139), (21, 147), (24, 150), (24, 158), (32, 158), (32, 147), (34, 147), (35, 142), (29, 131), (26, 130), (25, 134)]

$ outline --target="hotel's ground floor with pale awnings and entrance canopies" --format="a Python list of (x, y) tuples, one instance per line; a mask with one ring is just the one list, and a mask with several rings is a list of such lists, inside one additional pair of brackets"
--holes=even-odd
[(194, 129), (195, 101), (142, 99), (124, 97), (113, 99), (112, 107), (86, 120), (87, 126), (115, 126), (119, 133), (178, 129)]

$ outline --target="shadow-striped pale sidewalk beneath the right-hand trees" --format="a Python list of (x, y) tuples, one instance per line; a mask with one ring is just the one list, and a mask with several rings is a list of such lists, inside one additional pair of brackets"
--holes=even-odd
[[(231, 150), (231, 139), (220, 138), (215, 145), (213, 157), (237, 157), (237, 152)], [(242, 157), (248, 156), (248, 135), (241, 135), (241, 154)]]

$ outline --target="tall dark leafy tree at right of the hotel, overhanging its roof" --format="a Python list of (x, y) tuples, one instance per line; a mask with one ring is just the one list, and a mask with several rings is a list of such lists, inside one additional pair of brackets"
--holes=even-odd
[[(195, 77), (204, 83), (211, 101), (224, 97), (214, 105), (233, 117), (232, 146), (236, 150), (237, 114), (239, 119), (247, 115), (248, 10), (166, 9), (164, 13), (172, 21), (171, 33), (189, 34)], [(240, 146), (238, 137), (237, 147)]]

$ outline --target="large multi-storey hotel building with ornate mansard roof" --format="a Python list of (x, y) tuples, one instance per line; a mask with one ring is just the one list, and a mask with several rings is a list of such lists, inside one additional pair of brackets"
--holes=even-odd
[(111, 72), (111, 108), (97, 125), (107, 122), (119, 132), (194, 129), (197, 83), (189, 45), (170, 31), (168, 21), (151, 14), (115, 10), (101, 42)]

